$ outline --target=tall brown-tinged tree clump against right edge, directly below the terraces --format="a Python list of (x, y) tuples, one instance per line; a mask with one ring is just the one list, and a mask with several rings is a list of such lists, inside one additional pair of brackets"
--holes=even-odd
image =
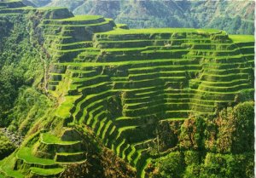
[(247, 101), (239, 103), (234, 108), (228, 107), (219, 112), (218, 152), (252, 152), (254, 130), (254, 103)]

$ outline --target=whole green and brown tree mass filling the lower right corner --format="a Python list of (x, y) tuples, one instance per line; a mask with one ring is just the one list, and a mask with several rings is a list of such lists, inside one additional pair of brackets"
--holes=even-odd
[(247, 101), (224, 108), (216, 118), (165, 123), (160, 127), (163, 129), (160, 149), (166, 151), (171, 147), (175, 151), (149, 164), (148, 175), (154, 178), (253, 177), (253, 106), (253, 101)]

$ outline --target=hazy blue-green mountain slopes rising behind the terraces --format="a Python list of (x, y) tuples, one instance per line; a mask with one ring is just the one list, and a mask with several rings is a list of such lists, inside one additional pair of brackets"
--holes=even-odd
[(253, 34), (254, 2), (245, 1), (102, 1), (30, 0), (40, 6), (67, 7), (74, 14), (101, 14), (131, 28), (218, 28)]

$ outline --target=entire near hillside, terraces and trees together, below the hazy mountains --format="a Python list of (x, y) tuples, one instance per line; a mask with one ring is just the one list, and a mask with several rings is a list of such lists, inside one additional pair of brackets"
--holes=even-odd
[(0, 0), (0, 77), (0, 178), (254, 176), (252, 34)]

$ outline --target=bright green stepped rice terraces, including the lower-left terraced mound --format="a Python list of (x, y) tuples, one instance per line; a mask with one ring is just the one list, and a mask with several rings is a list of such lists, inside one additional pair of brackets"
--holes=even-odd
[(157, 148), (161, 123), (211, 118), (218, 109), (253, 98), (253, 36), (214, 29), (128, 30), (67, 9), (33, 9), (19, 1), (0, 7), (0, 18), (42, 16), (41, 50), (51, 58), (46, 90), (58, 100), (55, 122), (63, 126), (32, 135), (0, 163), (0, 177), (55, 177), (68, 164), (83, 164), (86, 143), (78, 130), (87, 127), (144, 177), (150, 161), (170, 152)]

